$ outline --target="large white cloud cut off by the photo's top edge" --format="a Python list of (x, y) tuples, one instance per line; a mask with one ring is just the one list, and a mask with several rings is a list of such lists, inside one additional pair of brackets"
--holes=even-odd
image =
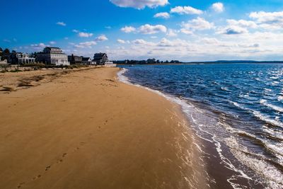
[(112, 4), (120, 7), (132, 7), (142, 9), (148, 6), (154, 8), (156, 6), (165, 6), (168, 4), (168, 0), (110, 0)]

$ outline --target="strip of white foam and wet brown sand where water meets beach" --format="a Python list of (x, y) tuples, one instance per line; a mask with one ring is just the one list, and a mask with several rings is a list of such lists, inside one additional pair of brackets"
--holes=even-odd
[[(151, 89), (146, 86), (131, 83), (124, 75), (127, 71), (127, 69), (123, 68), (117, 73), (119, 81), (132, 86), (144, 88), (148, 91), (163, 96), (163, 98), (166, 98), (168, 101), (180, 105), (183, 113), (185, 113), (187, 116), (189, 116), (192, 111), (202, 113), (201, 110), (195, 108), (193, 104), (188, 103), (181, 98)], [(196, 136), (199, 138), (198, 141), (200, 144), (195, 143), (195, 147), (197, 147), (197, 150), (202, 154), (200, 159), (203, 164), (205, 164), (204, 167), (207, 168), (205, 172), (207, 173), (207, 182), (210, 188), (262, 188), (262, 186), (265, 185), (264, 182), (259, 182), (261, 178), (259, 176), (255, 176), (253, 171), (250, 170), (250, 173), (247, 174), (235, 166), (233, 162), (230, 161), (231, 156), (235, 155), (232, 154), (231, 151), (227, 151), (228, 147), (224, 147), (215, 136), (212, 136), (212, 134), (207, 132), (208, 135), (211, 135), (209, 139), (208, 137), (203, 137), (202, 135), (198, 134), (200, 131), (206, 131), (202, 130), (202, 127), (198, 127), (200, 123), (192, 122), (192, 119), (193, 118), (187, 118), (187, 121), (191, 126), (191, 129), (195, 132), (193, 134), (196, 134)], [(233, 138), (231, 138), (231, 142), (233, 142)], [(218, 172), (216, 175), (213, 173), (215, 171)]]

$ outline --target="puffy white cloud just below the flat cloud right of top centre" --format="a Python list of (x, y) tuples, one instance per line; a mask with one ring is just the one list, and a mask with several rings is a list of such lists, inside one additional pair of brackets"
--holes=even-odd
[(187, 23), (182, 23), (181, 32), (185, 34), (192, 34), (195, 30), (209, 30), (214, 28), (214, 23), (209, 23), (204, 18), (197, 17)]

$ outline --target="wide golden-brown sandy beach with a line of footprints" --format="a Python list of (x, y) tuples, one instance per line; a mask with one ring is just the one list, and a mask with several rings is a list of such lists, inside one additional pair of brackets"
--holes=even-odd
[(0, 188), (206, 188), (180, 107), (117, 71), (1, 74)]

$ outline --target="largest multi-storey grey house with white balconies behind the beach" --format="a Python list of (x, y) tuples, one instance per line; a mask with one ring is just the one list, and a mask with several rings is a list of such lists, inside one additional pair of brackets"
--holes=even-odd
[(58, 47), (45, 47), (43, 52), (37, 54), (37, 62), (56, 66), (69, 65), (68, 56)]

